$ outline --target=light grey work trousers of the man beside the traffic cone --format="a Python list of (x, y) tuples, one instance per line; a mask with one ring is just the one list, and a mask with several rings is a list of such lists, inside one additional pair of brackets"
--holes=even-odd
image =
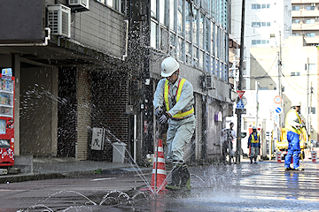
[(195, 131), (194, 116), (182, 120), (168, 119), (167, 130), (167, 159), (183, 161), (185, 144), (191, 141)]

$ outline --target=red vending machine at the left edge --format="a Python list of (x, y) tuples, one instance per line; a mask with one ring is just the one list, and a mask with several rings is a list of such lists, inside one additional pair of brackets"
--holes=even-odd
[(14, 165), (14, 77), (12, 69), (0, 74), (0, 169)]

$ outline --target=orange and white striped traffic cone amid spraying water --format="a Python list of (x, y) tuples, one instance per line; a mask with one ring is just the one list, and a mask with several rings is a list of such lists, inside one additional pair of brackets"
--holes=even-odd
[(153, 169), (152, 169), (152, 183), (151, 183), (152, 189), (155, 188), (162, 191), (167, 190), (165, 188), (165, 186), (167, 185), (166, 178), (167, 178), (167, 172), (165, 170), (163, 142), (161, 139), (159, 139), (159, 146), (157, 149), (155, 149), (155, 154), (154, 154), (154, 163), (153, 163)]

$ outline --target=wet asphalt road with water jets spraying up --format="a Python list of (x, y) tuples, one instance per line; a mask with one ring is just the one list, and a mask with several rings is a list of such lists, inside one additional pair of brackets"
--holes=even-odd
[(190, 167), (191, 192), (156, 194), (140, 191), (151, 182), (150, 171), (144, 179), (125, 172), (2, 184), (0, 211), (319, 211), (319, 165), (304, 167)]

